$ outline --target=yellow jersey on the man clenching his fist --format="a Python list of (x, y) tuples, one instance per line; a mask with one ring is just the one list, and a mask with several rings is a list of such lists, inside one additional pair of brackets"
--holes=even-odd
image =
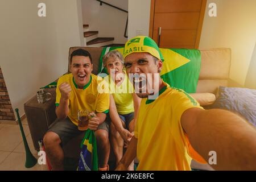
[(90, 112), (96, 113), (108, 113), (109, 112), (109, 94), (98, 93), (98, 84), (103, 79), (97, 78), (96, 75), (90, 75), (90, 81), (84, 86), (83, 89), (79, 89), (72, 73), (63, 75), (59, 78), (56, 88), (56, 102), (55, 105), (59, 106), (61, 93), (59, 85), (63, 82), (67, 82), (71, 86), (71, 95), (69, 97), (69, 113), (68, 117), (71, 121), (77, 125), (77, 112), (80, 109), (87, 109)]

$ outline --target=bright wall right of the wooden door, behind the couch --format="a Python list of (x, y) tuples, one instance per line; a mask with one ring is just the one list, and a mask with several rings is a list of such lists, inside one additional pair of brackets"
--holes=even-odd
[[(217, 5), (210, 18), (208, 5)], [(256, 41), (255, 0), (208, 0), (201, 32), (200, 49), (230, 47), (230, 79), (244, 85)], [(255, 69), (254, 69), (255, 70)]]

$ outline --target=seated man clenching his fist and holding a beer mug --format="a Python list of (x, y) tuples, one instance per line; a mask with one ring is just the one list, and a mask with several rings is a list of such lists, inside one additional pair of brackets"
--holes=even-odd
[(61, 76), (56, 88), (56, 115), (59, 121), (44, 135), (44, 146), (53, 170), (64, 169), (62, 146), (83, 133), (77, 128), (77, 112), (86, 109), (95, 117), (89, 119), (88, 129), (94, 130), (97, 140), (99, 169), (108, 169), (110, 153), (109, 94), (99, 93), (102, 80), (92, 74), (92, 57), (88, 51), (77, 49), (71, 54), (71, 73)]

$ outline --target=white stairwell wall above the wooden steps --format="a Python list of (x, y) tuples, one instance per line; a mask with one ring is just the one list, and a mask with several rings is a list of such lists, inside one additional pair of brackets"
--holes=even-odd
[[(127, 13), (114, 9), (95, 0), (82, 1), (82, 19), (84, 24), (89, 24), (90, 31), (99, 31), (98, 37), (114, 37), (114, 43), (125, 43), (123, 36)], [(128, 0), (105, 0), (123, 10), (128, 10)]]

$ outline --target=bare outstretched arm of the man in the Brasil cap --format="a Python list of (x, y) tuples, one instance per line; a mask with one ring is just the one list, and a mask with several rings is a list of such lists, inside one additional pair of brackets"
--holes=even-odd
[(181, 125), (193, 148), (207, 162), (209, 152), (216, 152), (214, 169), (256, 170), (256, 130), (238, 115), (192, 108), (182, 114)]

